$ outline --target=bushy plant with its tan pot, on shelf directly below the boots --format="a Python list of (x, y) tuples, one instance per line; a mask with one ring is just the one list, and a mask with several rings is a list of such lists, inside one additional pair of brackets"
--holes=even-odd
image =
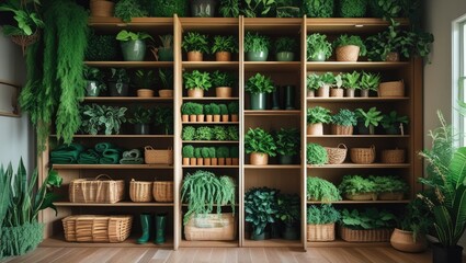
[(272, 135), (261, 128), (249, 128), (245, 135), (245, 150), (250, 153), (252, 165), (266, 165), (269, 156), (274, 157), (276, 145)]

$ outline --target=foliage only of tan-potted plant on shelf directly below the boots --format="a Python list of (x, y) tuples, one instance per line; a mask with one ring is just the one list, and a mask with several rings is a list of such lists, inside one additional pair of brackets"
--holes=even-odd
[(246, 153), (260, 152), (271, 157), (276, 155), (276, 145), (273, 137), (261, 128), (249, 128), (245, 135)]

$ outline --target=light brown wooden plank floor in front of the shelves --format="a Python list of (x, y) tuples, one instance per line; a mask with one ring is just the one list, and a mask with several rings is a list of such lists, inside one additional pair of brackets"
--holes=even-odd
[(428, 263), (431, 252), (410, 254), (388, 247), (309, 248), (307, 252), (274, 248), (182, 248), (178, 251), (151, 248), (38, 248), (1, 262), (253, 262), (253, 263)]

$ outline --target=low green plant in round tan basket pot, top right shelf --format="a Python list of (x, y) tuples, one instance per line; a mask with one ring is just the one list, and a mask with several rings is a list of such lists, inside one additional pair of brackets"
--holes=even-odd
[(367, 50), (359, 35), (340, 35), (334, 42), (337, 61), (355, 62), (360, 56), (365, 56)]

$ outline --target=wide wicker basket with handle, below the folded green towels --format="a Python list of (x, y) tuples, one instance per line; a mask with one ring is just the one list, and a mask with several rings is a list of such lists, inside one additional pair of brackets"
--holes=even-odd
[(106, 174), (100, 174), (92, 180), (77, 179), (69, 183), (69, 201), (71, 203), (113, 204), (122, 201), (124, 196), (125, 181), (112, 180)]

